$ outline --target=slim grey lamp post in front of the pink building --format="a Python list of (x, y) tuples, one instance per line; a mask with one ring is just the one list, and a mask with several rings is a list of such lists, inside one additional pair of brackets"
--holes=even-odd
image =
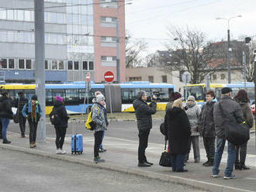
[(119, 5), (117, 1), (117, 17), (116, 17), (116, 78), (117, 82), (120, 83), (120, 58), (119, 58)]

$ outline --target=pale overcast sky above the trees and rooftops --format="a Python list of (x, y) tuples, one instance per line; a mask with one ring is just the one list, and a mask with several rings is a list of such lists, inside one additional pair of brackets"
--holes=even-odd
[(242, 17), (230, 20), (230, 38), (256, 39), (256, 0), (132, 0), (126, 5), (126, 30), (133, 38), (144, 38), (153, 53), (165, 50), (168, 26), (189, 26), (209, 40), (226, 40), (227, 20), (216, 18), (236, 15)]

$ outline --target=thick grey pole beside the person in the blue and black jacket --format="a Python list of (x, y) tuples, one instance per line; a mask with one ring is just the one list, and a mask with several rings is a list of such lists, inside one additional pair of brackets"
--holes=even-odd
[(35, 12), (35, 57), (36, 57), (36, 94), (42, 108), (42, 117), (40, 118), (37, 131), (37, 141), (46, 141), (45, 128), (45, 70), (44, 70), (44, 2), (43, 0), (34, 0)]

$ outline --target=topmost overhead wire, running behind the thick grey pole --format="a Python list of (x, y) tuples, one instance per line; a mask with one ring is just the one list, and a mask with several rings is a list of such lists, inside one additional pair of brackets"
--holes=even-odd
[[(132, 2), (132, 0), (119, 0), (117, 2)], [(74, 5), (54, 5), (54, 6), (44, 7), (44, 9), (54, 9), (54, 8), (74, 7), (74, 6), (87, 6), (87, 5), (101, 5), (101, 4), (108, 4), (108, 3), (112, 3), (112, 2), (97, 2), (97, 3), (74, 4)], [(9, 10), (33, 11), (34, 8), (0, 8), (0, 10), (4, 10), (4, 11), (9, 11)]]

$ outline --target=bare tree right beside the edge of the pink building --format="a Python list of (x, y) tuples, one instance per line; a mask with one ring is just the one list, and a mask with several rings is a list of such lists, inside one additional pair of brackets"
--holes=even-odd
[(131, 39), (126, 37), (126, 68), (133, 68), (140, 65), (142, 57), (140, 54), (147, 50), (147, 43), (144, 39)]

